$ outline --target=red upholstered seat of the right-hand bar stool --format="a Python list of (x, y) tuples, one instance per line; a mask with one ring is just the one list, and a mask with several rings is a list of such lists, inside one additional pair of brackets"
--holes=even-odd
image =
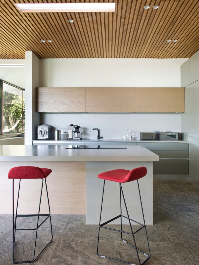
[(146, 173), (147, 173), (146, 167), (141, 166), (132, 169), (131, 171), (126, 169), (115, 169), (115, 170), (106, 171), (99, 174), (98, 178), (124, 183), (140, 179), (144, 177)]

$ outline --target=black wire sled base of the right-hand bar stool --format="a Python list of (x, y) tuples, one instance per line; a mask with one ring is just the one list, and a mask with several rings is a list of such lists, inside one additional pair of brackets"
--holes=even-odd
[[(138, 258), (138, 260), (139, 260), (139, 263), (140, 263), (140, 265), (143, 265), (143, 264), (145, 264), (145, 263), (150, 259), (151, 254), (150, 254), (150, 249), (149, 249), (148, 237), (147, 237), (147, 233), (146, 233), (146, 225), (145, 225), (144, 213), (143, 213), (143, 209), (142, 209), (142, 201), (141, 201), (141, 196), (140, 196), (139, 183), (138, 183), (138, 180), (137, 180), (137, 186), (138, 186), (138, 191), (139, 191), (140, 204), (141, 204), (142, 217), (143, 217), (143, 222), (144, 222), (144, 224), (141, 224), (141, 223), (136, 222), (135, 220), (132, 220), (132, 219), (129, 218), (129, 214), (128, 214), (128, 210), (127, 210), (126, 202), (125, 202), (125, 199), (124, 199), (124, 194), (123, 194), (123, 190), (122, 190), (122, 185), (121, 185), (121, 183), (119, 183), (119, 186), (120, 186), (120, 215), (118, 215), (118, 216), (116, 216), (116, 217), (114, 217), (114, 218), (112, 218), (112, 219), (110, 219), (110, 220), (108, 220), (108, 221), (106, 221), (106, 222), (104, 222), (104, 223), (101, 224), (102, 204), (103, 204), (103, 195), (104, 195), (104, 187), (105, 187), (105, 179), (104, 179), (103, 192), (102, 192), (101, 211), (100, 211), (100, 218), (99, 218), (99, 229), (98, 229), (98, 240), (97, 240), (97, 255), (100, 256), (100, 257), (102, 257), (102, 258), (109, 258), (109, 259), (113, 259), (113, 260), (121, 261), (121, 262), (124, 262), (124, 263), (128, 263), (128, 264), (131, 264), (131, 265), (135, 265), (134, 263), (131, 263), (131, 262), (127, 262), (127, 261), (124, 261), (124, 260), (119, 260), (119, 259), (115, 259), (115, 258), (111, 258), (111, 257), (107, 257), (107, 256), (104, 256), (104, 255), (98, 254), (99, 232), (100, 232), (100, 228), (105, 228), (105, 229), (109, 229), (109, 230), (113, 230), (113, 231), (120, 232), (120, 233), (121, 233), (121, 240), (122, 240), (124, 243), (126, 243), (126, 244), (132, 246), (132, 247), (136, 250), (136, 254), (137, 254), (137, 258)], [(126, 212), (127, 212), (127, 217), (124, 216), (124, 215), (122, 215), (121, 193), (122, 193), (122, 197), (123, 197), (124, 205), (125, 205)], [(129, 225), (130, 225), (131, 233), (129, 233), (129, 232), (125, 232), (125, 231), (122, 231), (122, 217), (123, 217), (123, 218), (127, 218), (127, 219), (129, 220)], [(110, 222), (112, 222), (112, 221), (114, 221), (114, 220), (116, 220), (116, 219), (118, 219), (118, 218), (120, 218), (120, 230), (105, 227), (106, 224), (108, 224), (108, 223), (110, 223)], [(142, 227), (139, 228), (138, 230), (136, 230), (135, 232), (133, 232), (133, 230), (132, 230), (132, 226), (131, 226), (131, 221), (133, 221), (133, 222), (135, 222), (135, 223), (137, 223), (137, 224), (140, 224)], [(147, 245), (148, 245), (149, 254), (144, 253), (143, 251), (141, 251), (140, 249), (138, 249), (137, 246), (136, 246), (136, 242), (135, 242), (135, 237), (134, 237), (134, 235), (135, 235), (135, 233), (137, 233), (138, 231), (140, 231), (142, 228), (145, 229), (145, 233), (146, 233), (146, 241), (147, 241)], [(135, 245), (135, 246), (133, 246), (133, 245), (129, 244), (128, 242), (126, 242), (125, 240), (123, 240), (123, 238), (122, 238), (122, 233), (126, 233), (126, 234), (130, 234), (130, 235), (132, 235), (132, 237), (133, 237), (133, 241), (134, 241), (134, 245)], [(147, 257), (142, 263), (140, 262), (140, 257), (139, 257), (139, 253), (138, 253), (138, 251), (139, 251), (140, 253), (144, 254), (144, 255)]]

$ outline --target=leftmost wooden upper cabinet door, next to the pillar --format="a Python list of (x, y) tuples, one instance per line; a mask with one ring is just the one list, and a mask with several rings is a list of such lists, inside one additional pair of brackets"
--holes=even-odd
[(37, 87), (37, 112), (85, 112), (85, 87)]

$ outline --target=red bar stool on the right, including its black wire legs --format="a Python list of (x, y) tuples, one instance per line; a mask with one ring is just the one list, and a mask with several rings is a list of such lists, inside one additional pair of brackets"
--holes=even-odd
[[(126, 169), (115, 169), (115, 170), (110, 170), (110, 171), (103, 172), (103, 173), (98, 175), (98, 178), (104, 179), (103, 192), (102, 192), (102, 203), (103, 203), (105, 180), (119, 182), (119, 186), (120, 186), (120, 215), (118, 215), (118, 216), (116, 216), (116, 217), (114, 217), (114, 218), (112, 218), (112, 219), (110, 219), (110, 220), (108, 220), (108, 221), (106, 221), (106, 222), (101, 224), (101, 215), (102, 215), (102, 204), (101, 204), (101, 211), (100, 211), (100, 218), (99, 218), (98, 240), (97, 240), (97, 255), (98, 256), (100, 256), (102, 258), (114, 259), (114, 260), (117, 260), (117, 261), (121, 261), (121, 262), (124, 262), (124, 263), (135, 265), (135, 264), (133, 264), (131, 262), (127, 262), (127, 261), (119, 260), (119, 259), (115, 259), (115, 258), (110, 258), (110, 257), (106, 257), (105, 255), (98, 254), (99, 231), (100, 231), (100, 228), (105, 228), (105, 229), (109, 229), (109, 230), (113, 230), (113, 231), (117, 231), (117, 232), (121, 233), (121, 240), (124, 243), (127, 243), (128, 245), (132, 246), (136, 250), (137, 258), (139, 260), (140, 265), (144, 264), (145, 262), (147, 262), (150, 259), (151, 254), (150, 254), (150, 249), (149, 249), (148, 237), (147, 237), (147, 233), (146, 233), (144, 213), (143, 213), (143, 209), (142, 209), (142, 201), (141, 201), (140, 188), (139, 188), (139, 183), (138, 183), (138, 179), (144, 177), (146, 175), (146, 173), (147, 173), (146, 167), (138, 167), (138, 168), (132, 169), (131, 171), (126, 170)], [(129, 218), (126, 202), (125, 202), (125, 199), (124, 199), (124, 194), (123, 194), (122, 184), (121, 183), (126, 183), (126, 182), (130, 182), (130, 181), (133, 181), (133, 180), (137, 180), (137, 186), (138, 186), (138, 191), (139, 191), (140, 204), (141, 204), (142, 217), (143, 217), (144, 224), (141, 224), (141, 223), (136, 222), (135, 220), (132, 220), (132, 219)], [(127, 217), (122, 215), (121, 192), (122, 192), (122, 197), (123, 197), (124, 205), (125, 205), (126, 212), (127, 212)], [(130, 229), (131, 229), (131, 233), (122, 231), (122, 217), (128, 219), (129, 225), (130, 225)], [(112, 221), (114, 221), (114, 220), (116, 220), (118, 218), (120, 218), (120, 230), (105, 227), (106, 224), (108, 224), (108, 223), (110, 223), (110, 222), (112, 222)], [(132, 226), (131, 226), (131, 221), (133, 221), (133, 222), (135, 222), (137, 224), (140, 224), (142, 227), (137, 229), (135, 232), (133, 232), (133, 229), (132, 229)], [(145, 228), (146, 241), (147, 241), (147, 245), (148, 245), (149, 254), (144, 253), (143, 251), (138, 249), (137, 246), (136, 246), (134, 235), (135, 235), (135, 233), (140, 231), (142, 228)], [(122, 239), (122, 233), (126, 233), (126, 234), (132, 235), (133, 241), (134, 241), (134, 246)], [(139, 257), (138, 251), (140, 253), (144, 254), (145, 256), (147, 256), (147, 258), (142, 263), (140, 262), (140, 257)]]

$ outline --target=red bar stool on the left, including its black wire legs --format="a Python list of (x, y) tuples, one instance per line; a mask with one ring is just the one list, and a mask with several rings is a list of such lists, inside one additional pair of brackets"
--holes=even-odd
[[(51, 172), (52, 172), (52, 170), (47, 169), (47, 168), (39, 168), (39, 167), (35, 167), (35, 166), (18, 166), (18, 167), (13, 167), (8, 173), (8, 179), (12, 179), (12, 263), (31, 263), (31, 262), (34, 262), (53, 239), (52, 223), (51, 223), (51, 216), (50, 216), (50, 205), (49, 205), (48, 191), (47, 191), (47, 185), (46, 185), (46, 178)], [(14, 218), (14, 179), (19, 179), (19, 189), (18, 189), (15, 218)], [(21, 179), (42, 179), (38, 214), (20, 214), (20, 215), (17, 214)], [(46, 186), (49, 213), (40, 214), (41, 195), (42, 195), (42, 188), (43, 188), (44, 180), (45, 180), (45, 186)], [(37, 216), (36, 228), (16, 229), (16, 221), (17, 221), (18, 217), (33, 217), (33, 216)], [(39, 223), (39, 217), (41, 217), (41, 216), (46, 216), (46, 218), (41, 224), (38, 224)], [(48, 244), (41, 250), (41, 252), (35, 258), (34, 256), (35, 256), (35, 248), (36, 248), (36, 241), (37, 241), (37, 230), (48, 218), (50, 218), (51, 240), (48, 242)], [(15, 234), (16, 234), (16, 231), (19, 231), (19, 230), (36, 230), (32, 260), (14, 261)]]

